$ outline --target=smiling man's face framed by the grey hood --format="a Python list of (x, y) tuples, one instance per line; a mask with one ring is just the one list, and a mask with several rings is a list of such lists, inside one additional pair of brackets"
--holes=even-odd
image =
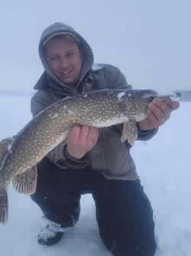
[(44, 48), (50, 70), (64, 84), (75, 84), (82, 67), (82, 54), (77, 44), (67, 38), (52, 38)]

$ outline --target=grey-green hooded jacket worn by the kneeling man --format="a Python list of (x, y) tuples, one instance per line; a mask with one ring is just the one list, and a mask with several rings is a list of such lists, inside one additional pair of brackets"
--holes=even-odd
[[(44, 42), (57, 34), (73, 35), (79, 41), (80, 47), (83, 48), (83, 66), (77, 84), (63, 84), (50, 70), (44, 57)], [(33, 117), (50, 104), (64, 97), (104, 88), (132, 89), (118, 67), (109, 64), (94, 64), (94, 57), (89, 44), (68, 25), (55, 23), (46, 28), (41, 35), (38, 49), (40, 60), (44, 66), (44, 73), (34, 86), (37, 92), (31, 98)], [(131, 146), (128, 142), (121, 143), (121, 130), (121, 124), (99, 128), (98, 142), (82, 159), (75, 159), (67, 153), (66, 139), (53, 149), (47, 157), (61, 169), (83, 169), (85, 166), (92, 166), (93, 170), (101, 172), (107, 179), (138, 179), (134, 160), (130, 154)], [(138, 127), (138, 139), (151, 139), (156, 132), (157, 130), (141, 131)]]

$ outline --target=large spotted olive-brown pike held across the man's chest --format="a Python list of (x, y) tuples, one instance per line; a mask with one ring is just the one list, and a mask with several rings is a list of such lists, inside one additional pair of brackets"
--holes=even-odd
[(138, 136), (136, 122), (147, 117), (153, 90), (99, 90), (58, 101), (41, 111), (14, 137), (0, 143), (0, 222), (8, 220), (8, 184), (32, 194), (37, 162), (66, 139), (74, 125), (105, 127), (124, 123), (121, 141), (131, 145)]

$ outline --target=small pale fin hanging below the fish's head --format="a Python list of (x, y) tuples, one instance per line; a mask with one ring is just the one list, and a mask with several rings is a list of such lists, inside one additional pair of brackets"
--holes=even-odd
[(123, 123), (121, 142), (124, 143), (125, 140), (128, 140), (128, 143), (133, 146), (136, 139), (138, 139), (138, 128), (136, 122), (129, 120), (127, 123)]

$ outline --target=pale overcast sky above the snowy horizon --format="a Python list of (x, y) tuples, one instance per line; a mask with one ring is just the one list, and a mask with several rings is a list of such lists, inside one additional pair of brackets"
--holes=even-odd
[(191, 2), (0, 2), (0, 90), (32, 90), (43, 72), (37, 46), (56, 21), (89, 42), (95, 62), (116, 65), (134, 88), (191, 89)]

